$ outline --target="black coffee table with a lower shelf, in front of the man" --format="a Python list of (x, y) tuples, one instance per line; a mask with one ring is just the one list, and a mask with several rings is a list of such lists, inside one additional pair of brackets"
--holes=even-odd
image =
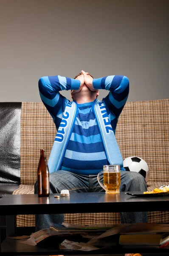
[[(137, 192), (135, 192), (137, 193)], [(48, 213), (79, 213), (79, 212), (133, 212), (133, 211), (167, 211), (169, 210), (169, 196), (145, 196), (135, 197), (126, 195), (124, 192), (116, 195), (101, 193), (72, 193), (70, 197), (54, 198), (51, 194), (48, 198), (38, 198), (37, 195), (6, 195), (0, 199), (0, 215), (7, 215), (13, 219), (18, 214), (48, 214)], [(9, 218), (10, 217), (10, 218)], [(14, 233), (14, 224), (6, 223), (9, 230)], [(38, 247), (22, 244), (14, 239), (5, 239), (1, 244), (1, 254), (5, 255), (99, 255), (112, 253), (123, 255), (132, 253), (135, 249), (123, 249), (121, 246), (114, 246), (111, 249), (85, 251), (60, 251), (55, 246)], [(138, 251), (138, 249), (137, 249)], [(169, 253), (168, 249), (141, 248), (140, 253)], [(158, 254), (160, 253), (160, 254)]]

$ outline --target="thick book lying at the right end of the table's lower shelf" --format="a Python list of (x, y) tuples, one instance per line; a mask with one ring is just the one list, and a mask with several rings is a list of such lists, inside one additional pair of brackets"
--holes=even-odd
[(122, 234), (119, 238), (119, 244), (125, 247), (147, 245), (149, 247), (161, 248), (168, 241), (169, 233)]

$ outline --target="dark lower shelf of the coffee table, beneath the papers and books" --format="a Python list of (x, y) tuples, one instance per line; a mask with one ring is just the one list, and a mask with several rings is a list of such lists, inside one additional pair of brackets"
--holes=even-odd
[[(158, 249), (158, 248), (148, 248), (148, 247), (142, 247), (139, 249), (134, 248), (122, 248), (121, 246), (113, 246), (105, 249), (99, 249), (99, 250), (93, 250), (93, 251), (79, 251), (79, 250), (59, 250), (58, 246), (55, 247), (54, 245), (50, 245), (48, 247), (43, 246), (31, 246), (28, 244), (20, 243), (19, 240), (15, 239), (5, 239), (1, 243), (1, 255), (2, 256), (24, 256), (24, 255), (57, 255), (57, 254), (63, 254), (63, 255), (118, 255), (123, 256), (124, 253), (154, 253), (155, 255), (159, 253), (159, 255), (163, 255), (162, 253), (165, 253), (166, 255), (169, 255), (169, 249)], [(164, 255), (165, 255), (164, 254)]]

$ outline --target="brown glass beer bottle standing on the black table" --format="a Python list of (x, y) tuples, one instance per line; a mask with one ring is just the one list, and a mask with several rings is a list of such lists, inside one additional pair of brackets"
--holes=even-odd
[(49, 196), (49, 169), (45, 157), (45, 149), (40, 150), (40, 159), (37, 169), (37, 188), (38, 196)]

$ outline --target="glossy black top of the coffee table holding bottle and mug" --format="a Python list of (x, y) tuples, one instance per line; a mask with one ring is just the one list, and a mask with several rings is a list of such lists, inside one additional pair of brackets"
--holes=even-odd
[[(139, 193), (139, 192), (135, 192)], [(140, 192), (141, 193), (141, 192)], [(0, 215), (78, 212), (133, 212), (169, 210), (169, 196), (131, 196), (120, 194), (70, 193), (54, 198), (37, 195), (6, 195), (0, 199)]]

